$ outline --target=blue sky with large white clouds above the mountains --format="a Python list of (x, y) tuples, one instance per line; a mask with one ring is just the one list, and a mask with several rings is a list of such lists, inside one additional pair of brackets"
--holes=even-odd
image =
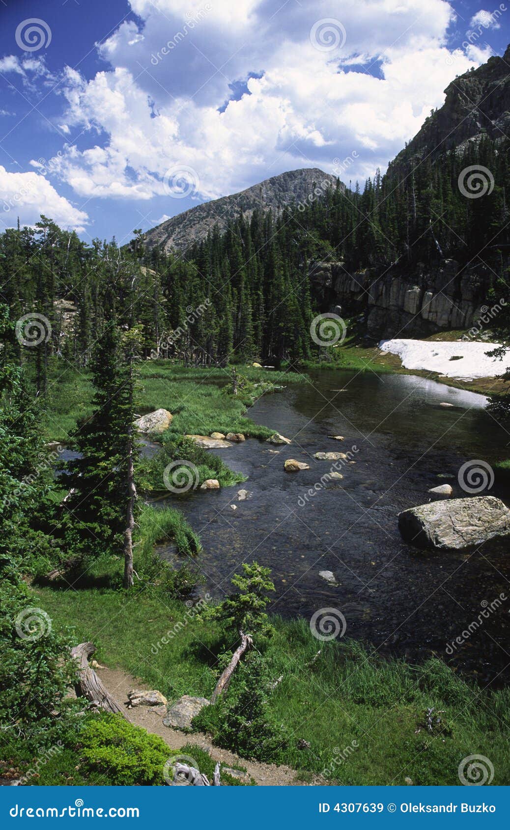
[(509, 7), (0, 0), (0, 230), (125, 242), (284, 170), (363, 180), (503, 54)]

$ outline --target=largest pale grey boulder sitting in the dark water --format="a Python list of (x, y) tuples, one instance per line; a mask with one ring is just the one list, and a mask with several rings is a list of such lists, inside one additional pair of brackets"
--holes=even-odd
[(418, 547), (460, 550), (510, 535), (510, 510), (494, 496), (432, 501), (400, 513), (399, 529)]

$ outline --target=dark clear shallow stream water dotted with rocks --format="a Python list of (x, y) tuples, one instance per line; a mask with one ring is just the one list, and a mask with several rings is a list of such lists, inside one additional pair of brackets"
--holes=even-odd
[[(478, 618), (480, 603), (502, 592), (510, 598), (508, 543), (488, 543), (475, 554), (422, 551), (402, 541), (396, 515), (429, 501), (427, 490), (441, 483), (465, 495), (459, 467), (508, 456), (510, 434), (485, 412), (482, 396), (424, 378), (321, 372), (311, 381), (266, 396), (249, 412), (292, 438), (291, 446), (253, 439), (218, 451), (248, 481), (168, 501), (202, 538), (196, 562), (208, 590), (220, 597), (241, 563), (256, 559), (272, 568), (274, 613), (311, 618), (318, 608), (338, 608), (346, 636), (383, 653), (422, 660), (436, 652), (481, 681), (502, 671), (498, 682), (508, 680), (510, 599), (459, 652), (445, 654), (446, 644)], [(331, 468), (331, 461), (312, 457), (319, 451), (351, 451), (356, 463), (339, 468), (342, 481), (306, 498)], [(311, 469), (288, 474), (287, 458)], [(251, 494), (246, 501), (238, 501), (241, 487)], [(508, 493), (490, 492), (508, 501)], [(171, 548), (160, 553), (174, 559)], [(338, 584), (326, 583), (321, 570), (332, 571)]]

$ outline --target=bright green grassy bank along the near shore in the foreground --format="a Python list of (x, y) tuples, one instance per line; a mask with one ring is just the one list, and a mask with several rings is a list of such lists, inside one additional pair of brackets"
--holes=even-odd
[[(150, 581), (130, 594), (47, 586), (37, 588), (37, 599), (57, 630), (71, 626), (75, 642), (96, 643), (99, 662), (129, 671), (169, 701), (210, 696), (223, 667), (220, 623), (200, 622), (172, 592)], [(270, 676), (282, 680), (268, 710), (287, 735), (282, 760), (303, 779), (326, 770), (342, 784), (404, 784), (406, 777), (459, 784), (462, 759), (483, 754), (493, 784), (508, 784), (508, 691), (476, 689), (434, 657), (409, 666), (356, 642), (318, 642), (307, 620), (273, 623), (264, 657)], [(221, 713), (205, 713), (214, 735)], [(299, 740), (310, 748), (299, 749)]]

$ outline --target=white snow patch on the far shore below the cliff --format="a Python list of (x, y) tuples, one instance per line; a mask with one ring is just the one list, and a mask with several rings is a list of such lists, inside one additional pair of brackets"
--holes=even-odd
[(486, 352), (498, 343), (464, 343), (459, 340), (381, 340), (383, 352), (398, 354), (405, 369), (425, 369), (447, 378), (493, 378), (510, 365), (510, 349), (505, 358), (488, 358)]

